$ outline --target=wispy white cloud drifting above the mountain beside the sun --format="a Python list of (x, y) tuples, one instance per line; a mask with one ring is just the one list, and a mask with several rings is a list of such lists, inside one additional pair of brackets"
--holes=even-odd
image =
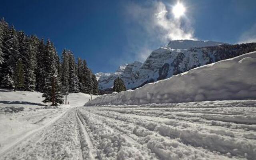
[[(161, 1), (125, 4), (127, 29), (127, 52), (135, 60), (144, 61), (152, 50), (168, 44), (169, 40), (196, 39), (191, 20), (186, 16), (174, 18), (170, 4)], [(137, 29), (134, 29), (134, 26)]]

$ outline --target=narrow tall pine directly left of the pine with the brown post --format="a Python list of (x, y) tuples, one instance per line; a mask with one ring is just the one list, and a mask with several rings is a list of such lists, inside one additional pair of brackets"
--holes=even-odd
[(44, 64), (44, 56), (45, 56), (45, 44), (44, 39), (41, 39), (38, 44), (38, 50), (36, 54), (36, 62), (37, 62), (37, 68), (35, 70), (36, 73), (36, 90), (39, 92), (43, 92), (44, 89), (44, 82), (45, 82), (45, 76), (44, 76), (44, 70), (45, 70), (45, 64)]

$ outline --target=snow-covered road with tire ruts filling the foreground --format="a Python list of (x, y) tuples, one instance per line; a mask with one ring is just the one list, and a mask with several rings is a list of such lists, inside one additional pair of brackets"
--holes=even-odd
[(255, 157), (256, 101), (247, 100), (70, 108), (0, 159)]

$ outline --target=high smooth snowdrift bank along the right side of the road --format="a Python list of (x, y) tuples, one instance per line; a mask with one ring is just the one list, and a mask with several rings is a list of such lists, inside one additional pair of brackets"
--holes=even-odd
[(103, 95), (92, 105), (256, 99), (256, 52), (200, 66), (136, 90)]

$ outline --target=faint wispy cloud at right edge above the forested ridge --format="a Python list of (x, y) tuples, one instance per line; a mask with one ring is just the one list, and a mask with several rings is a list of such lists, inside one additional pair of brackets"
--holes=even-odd
[(238, 43), (250, 43), (256, 42), (256, 24), (254, 24), (249, 30), (242, 33)]

